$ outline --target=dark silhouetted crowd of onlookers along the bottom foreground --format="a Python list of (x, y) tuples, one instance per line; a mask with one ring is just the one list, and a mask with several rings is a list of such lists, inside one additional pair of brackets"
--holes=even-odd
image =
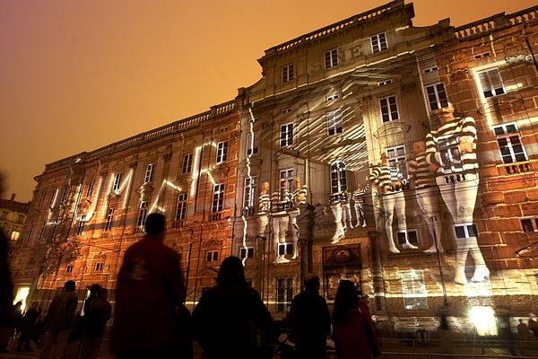
[[(186, 287), (178, 253), (162, 242), (165, 228), (163, 215), (148, 215), (143, 239), (126, 250), (117, 277), (111, 337), (117, 359), (193, 358), (193, 340), (204, 350), (204, 359), (272, 357), (275, 346), (271, 345), (277, 343), (278, 328), (259, 293), (247, 285), (242, 261), (237, 257), (222, 261), (216, 285), (202, 293), (191, 316), (185, 306)], [(22, 302), (14, 306), (9, 302), (13, 302), (11, 283), (1, 285), (5, 289), (0, 291), (1, 351), (10, 337), (17, 337), (17, 350), (30, 351), (32, 339), (42, 346), (41, 359), (97, 357), (112, 312), (105, 288), (91, 285), (82, 312), (75, 314), (75, 283), (67, 281), (46, 315), (38, 302), (22, 315)], [(295, 357), (325, 358), (326, 339), (331, 332), (337, 358), (379, 356), (376, 328), (356, 285), (350, 280), (340, 281), (332, 315), (319, 288), (319, 277), (308, 273), (304, 290), (291, 302), (286, 320), (292, 329)], [(538, 334), (536, 322), (527, 329), (534, 335)], [(39, 340), (45, 325), (46, 335)], [(518, 327), (520, 330), (523, 326)], [(69, 353), (67, 347), (73, 342), (76, 350)]]

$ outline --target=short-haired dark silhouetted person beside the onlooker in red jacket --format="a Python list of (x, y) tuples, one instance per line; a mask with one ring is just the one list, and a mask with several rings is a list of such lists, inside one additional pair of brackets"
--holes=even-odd
[(288, 320), (293, 328), (298, 358), (322, 359), (326, 355), (326, 337), (331, 333), (331, 314), (325, 298), (319, 295), (319, 277), (308, 273), (305, 289), (291, 301)]

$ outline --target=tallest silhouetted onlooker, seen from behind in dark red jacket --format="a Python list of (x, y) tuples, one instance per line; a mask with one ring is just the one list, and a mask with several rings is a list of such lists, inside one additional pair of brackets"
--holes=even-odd
[(176, 313), (186, 291), (178, 252), (162, 243), (165, 228), (164, 215), (148, 215), (143, 239), (126, 250), (117, 275), (112, 348), (118, 359), (181, 350)]

